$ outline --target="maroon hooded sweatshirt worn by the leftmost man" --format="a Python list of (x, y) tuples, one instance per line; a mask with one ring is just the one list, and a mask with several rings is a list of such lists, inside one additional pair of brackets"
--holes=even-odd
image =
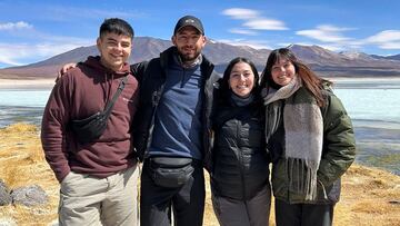
[[(44, 109), (41, 141), (46, 159), (59, 181), (70, 170), (103, 178), (137, 164), (130, 126), (139, 89), (137, 79), (130, 73), (128, 63), (116, 72), (103, 67), (100, 57), (89, 57), (56, 83)], [(78, 143), (69, 129), (70, 121), (102, 111), (126, 75), (129, 75), (128, 80), (104, 132), (93, 143)]]

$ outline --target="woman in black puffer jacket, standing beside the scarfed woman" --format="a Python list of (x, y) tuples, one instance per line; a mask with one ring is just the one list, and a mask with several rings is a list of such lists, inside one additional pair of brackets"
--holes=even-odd
[(211, 191), (220, 225), (268, 225), (271, 189), (259, 75), (246, 58), (227, 67), (212, 117)]

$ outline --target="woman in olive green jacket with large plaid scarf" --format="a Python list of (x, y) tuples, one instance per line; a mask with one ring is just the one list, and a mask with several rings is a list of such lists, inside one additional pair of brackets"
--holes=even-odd
[(356, 140), (330, 85), (290, 49), (273, 50), (267, 60), (261, 86), (278, 226), (332, 224)]

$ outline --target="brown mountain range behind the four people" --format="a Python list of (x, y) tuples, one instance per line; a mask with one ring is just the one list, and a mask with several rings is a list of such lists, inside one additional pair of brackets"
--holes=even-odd
[[(172, 46), (171, 41), (151, 37), (137, 37), (130, 63), (158, 57), (161, 51)], [(363, 52), (333, 52), (319, 46), (291, 45), (296, 56), (308, 63), (317, 73), (323, 77), (399, 77), (400, 55), (382, 57)], [(209, 40), (203, 53), (216, 65), (218, 72), (223, 72), (228, 62), (234, 57), (251, 59), (259, 71), (266, 65), (271, 50), (254, 49), (248, 46), (232, 46)], [(36, 79), (53, 78), (60, 67), (67, 62), (83, 61), (88, 56), (98, 55), (96, 46), (79, 47), (57, 55), (47, 60), (27, 66), (0, 69), (0, 78)]]

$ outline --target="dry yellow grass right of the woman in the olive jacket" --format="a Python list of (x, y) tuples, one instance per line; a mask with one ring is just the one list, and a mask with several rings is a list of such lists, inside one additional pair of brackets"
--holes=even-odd
[(400, 177), (381, 169), (352, 166), (343, 177), (334, 223), (400, 226)]

